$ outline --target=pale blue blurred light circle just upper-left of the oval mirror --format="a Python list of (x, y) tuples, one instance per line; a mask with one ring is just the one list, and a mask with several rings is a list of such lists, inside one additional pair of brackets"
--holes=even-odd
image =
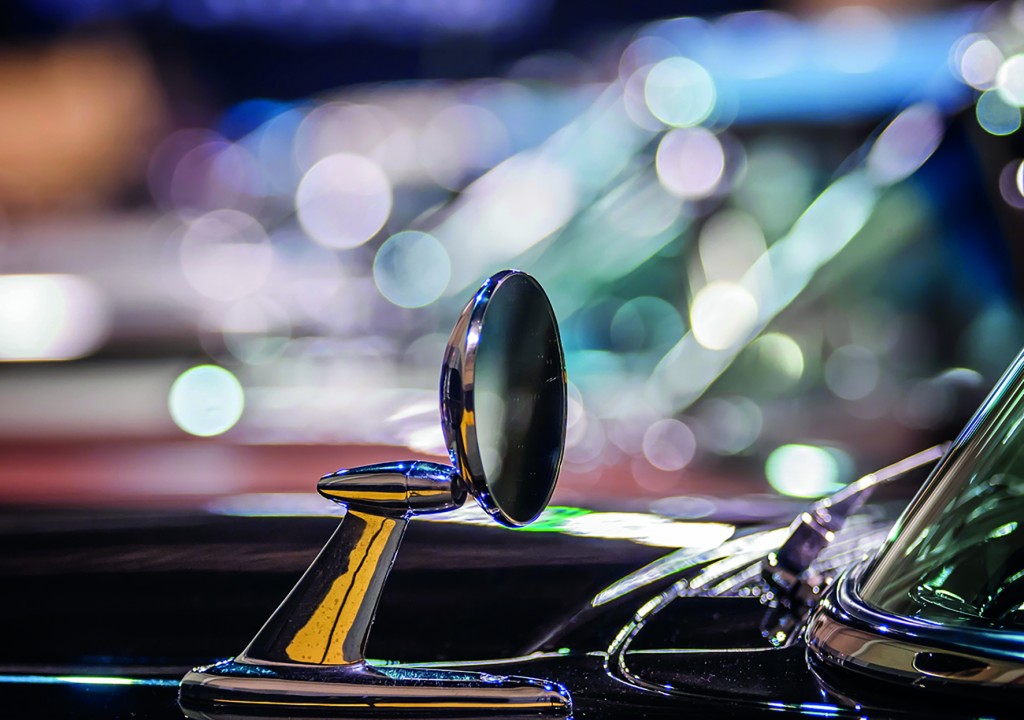
[(374, 258), (377, 289), (400, 307), (429, 305), (444, 293), (451, 278), (447, 251), (426, 232), (397, 232), (381, 245)]

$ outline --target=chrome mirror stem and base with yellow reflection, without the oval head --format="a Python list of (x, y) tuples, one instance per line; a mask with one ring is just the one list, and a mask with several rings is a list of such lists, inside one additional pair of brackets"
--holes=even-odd
[(317, 490), (346, 506), (341, 524), (242, 654), (182, 678), (186, 716), (569, 714), (568, 692), (556, 683), (366, 660), (380, 594), (411, 517), (466, 498), (454, 467), (368, 465), (325, 475)]

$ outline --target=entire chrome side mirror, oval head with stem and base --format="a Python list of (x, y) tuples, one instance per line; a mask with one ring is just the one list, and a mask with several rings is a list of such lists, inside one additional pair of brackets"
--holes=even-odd
[(440, 379), (453, 465), (407, 461), (338, 470), (317, 483), (346, 507), (319, 555), (233, 660), (181, 681), (193, 717), (567, 715), (560, 685), (433, 668), (374, 667), (365, 648), (381, 590), (413, 515), (467, 495), (497, 521), (535, 520), (554, 491), (565, 439), (565, 363), (544, 290), (524, 272), (489, 278), (456, 324)]

